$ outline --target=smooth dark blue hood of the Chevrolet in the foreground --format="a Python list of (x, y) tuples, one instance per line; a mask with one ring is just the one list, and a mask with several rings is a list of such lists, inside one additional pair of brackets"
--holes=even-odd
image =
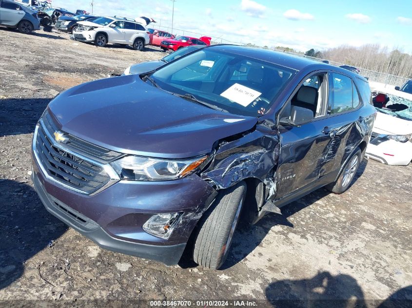
[(138, 75), (100, 79), (59, 94), (48, 106), (59, 129), (135, 155), (188, 158), (216, 141), (250, 130), (257, 118), (198, 105), (143, 82)]

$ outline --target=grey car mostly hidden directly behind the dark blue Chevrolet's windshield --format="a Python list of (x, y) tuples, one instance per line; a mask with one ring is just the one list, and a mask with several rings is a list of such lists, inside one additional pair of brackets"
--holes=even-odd
[(203, 47), (204, 46), (201, 46), (201, 45), (187, 46), (187, 47), (180, 48), (178, 51), (175, 51), (171, 54), (166, 55), (160, 60), (148, 61), (148, 62), (131, 65), (124, 71), (123, 75), (132, 75), (132, 74), (137, 75), (137, 74), (141, 74), (144, 72), (150, 72), (150, 71), (156, 70), (158, 67), (166, 63), (169, 63), (170, 61), (176, 60), (183, 55), (192, 53)]

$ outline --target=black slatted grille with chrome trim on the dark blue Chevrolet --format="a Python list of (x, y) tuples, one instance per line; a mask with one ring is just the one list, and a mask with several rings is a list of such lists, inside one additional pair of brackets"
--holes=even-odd
[[(67, 146), (60, 145), (52, 137), (57, 129), (54, 128), (50, 116), (46, 113), (40, 121), (34, 147), (38, 154), (39, 164), (54, 181), (58, 181), (80, 193), (93, 194), (113, 181), (101, 163), (97, 160), (109, 162), (121, 154), (101, 147), (90, 145), (70, 135), (64, 135)], [(69, 145), (70, 144), (70, 145)], [(72, 151), (75, 148), (77, 151)], [(101, 150), (101, 157), (98, 157)], [(116, 154), (115, 154), (116, 153)], [(94, 157), (93, 159), (84, 159)]]

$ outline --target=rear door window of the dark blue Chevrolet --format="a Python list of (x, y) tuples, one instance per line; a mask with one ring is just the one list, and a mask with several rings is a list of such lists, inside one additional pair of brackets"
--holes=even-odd
[(334, 72), (330, 76), (328, 114), (353, 109), (352, 79)]

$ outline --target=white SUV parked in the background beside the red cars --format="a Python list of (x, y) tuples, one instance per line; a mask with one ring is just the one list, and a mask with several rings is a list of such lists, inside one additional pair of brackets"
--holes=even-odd
[(131, 45), (142, 51), (150, 43), (149, 32), (137, 21), (124, 17), (100, 17), (93, 22), (79, 21), (79, 26), (72, 39), (82, 42), (94, 42), (104, 47), (107, 43)]

